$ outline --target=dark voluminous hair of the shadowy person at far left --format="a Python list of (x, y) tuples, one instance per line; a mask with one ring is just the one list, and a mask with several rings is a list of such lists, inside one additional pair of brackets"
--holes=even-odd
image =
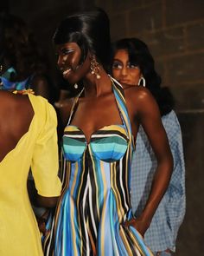
[(18, 75), (24, 77), (42, 74), (48, 68), (35, 36), (19, 16), (8, 14), (0, 17), (0, 56), (2, 64), (12, 66)]

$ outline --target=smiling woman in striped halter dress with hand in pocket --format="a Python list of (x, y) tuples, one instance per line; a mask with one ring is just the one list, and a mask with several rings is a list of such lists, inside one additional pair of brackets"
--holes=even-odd
[[(107, 75), (109, 20), (103, 10), (67, 16), (54, 34), (58, 66), (83, 83), (70, 100), (62, 139), (63, 190), (44, 240), (45, 255), (152, 255), (143, 234), (169, 183), (172, 156), (156, 102), (142, 87)], [(137, 100), (136, 100), (137, 99)], [(143, 213), (131, 211), (131, 155), (139, 125), (158, 167)]]

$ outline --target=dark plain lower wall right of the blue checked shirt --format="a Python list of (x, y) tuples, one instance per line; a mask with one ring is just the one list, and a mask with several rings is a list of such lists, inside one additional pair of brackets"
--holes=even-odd
[(176, 256), (204, 251), (204, 111), (179, 114), (186, 164), (187, 211), (178, 234)]

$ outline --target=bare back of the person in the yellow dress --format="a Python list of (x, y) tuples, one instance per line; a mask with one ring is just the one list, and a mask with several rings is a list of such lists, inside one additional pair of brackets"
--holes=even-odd
[(27, 95), (0, 92), (0, 161), (29, 130), (34, 110)]

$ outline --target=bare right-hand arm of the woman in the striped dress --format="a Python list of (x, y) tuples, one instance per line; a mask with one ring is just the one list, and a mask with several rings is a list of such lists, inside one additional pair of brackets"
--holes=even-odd
[(138, 232), (143, 235), (150, 226), (156, 208), (169, 185), (173, 169), (173, 158), (155, 99), (147, 89), (137, 88), (135, 90), (136, 93), (130, 95), (131, 104), (129, 103), (129, 105), (131, 113), (134, 113), (137, 122), (139, 120), (143, 126), (157, 160), (157, 168), (150, 196), (143, 213), (137, 219), (131, 220), (131, 223), (128, 223), (128, 225), (135, 226)]

